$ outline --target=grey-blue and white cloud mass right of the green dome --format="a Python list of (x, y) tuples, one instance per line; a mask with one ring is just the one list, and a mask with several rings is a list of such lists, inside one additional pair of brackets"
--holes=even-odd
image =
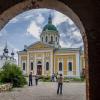
[(60, 33), (60, 44), (62, 47), (74, 48), (83, 46), (82, 36), (79, 29), (70, 20), (57, 25)]

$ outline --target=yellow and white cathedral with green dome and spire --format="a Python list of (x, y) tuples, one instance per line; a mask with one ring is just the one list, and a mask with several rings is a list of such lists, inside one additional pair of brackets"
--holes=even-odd
[(18, 52), (18, 65), (24, 75), (63, 74), (64, 77), (80, 78), (85, 67), (84, 54), (80, 48), (62, 48), (59, 43), (60, 34), (52, 24), (49, 16), (44, 26), (40, 41)]

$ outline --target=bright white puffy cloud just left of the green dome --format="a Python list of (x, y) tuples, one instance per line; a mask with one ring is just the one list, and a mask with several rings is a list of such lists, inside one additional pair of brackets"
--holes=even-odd
[(41, 31), (42, 31), (42, 28), (39, 27), (35, 21), (32, 21), (29, 27), (27, 28), (26, 33), (27, 35), (32, 35), (33, 37), (39, 40)]

